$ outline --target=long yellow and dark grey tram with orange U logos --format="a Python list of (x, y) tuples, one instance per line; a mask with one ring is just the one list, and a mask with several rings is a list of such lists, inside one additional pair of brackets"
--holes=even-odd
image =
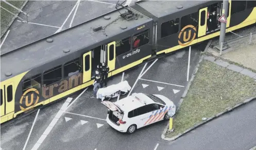
[[(1, 52), (1, 123), (48, 105), (94, 82), (97, 65), (108, 77), (159, 55), (220, 34), (223, 1), (140, 1)], [(256, 1), (229, 1), (226, 32), (256, 23)]]

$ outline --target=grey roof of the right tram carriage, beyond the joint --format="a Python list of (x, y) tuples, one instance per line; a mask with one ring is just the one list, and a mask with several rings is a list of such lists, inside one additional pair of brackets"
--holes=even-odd
[[(209, 1), (140, 1), (137, 2), (156, 17), (165, 16)], [(177, 7), (182, 6), (181, 9)]]

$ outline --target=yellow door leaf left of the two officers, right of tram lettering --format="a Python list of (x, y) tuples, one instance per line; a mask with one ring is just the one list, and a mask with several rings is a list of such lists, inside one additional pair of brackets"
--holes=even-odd
[(91, 80), (92, 76), (92, 51), (83, 54), (83, 83)]

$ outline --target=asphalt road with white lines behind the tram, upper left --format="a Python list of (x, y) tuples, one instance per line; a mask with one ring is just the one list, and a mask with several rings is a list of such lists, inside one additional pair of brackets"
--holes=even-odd
[[(75, 4), (77, 1), (28, 1), (23, 11), (27, 12), (29, 16), (27, 17), (23, 13), (19, 16), (30, 23), (22, 23), (15, 19), (1, 47), (1, 53), (12, 51), (43, 39), (54, 34), (59, 28), (65, 30), (70, 26), (76, 26), (115, 10), (116, 2), (80, 1), (76, 11)], [(120, 3), (122, 2), (120, 1)], [(72, 21), (73, 16), (74, 19)], [(1, 42), (4, 37), (5, 35), (3, 35)]]

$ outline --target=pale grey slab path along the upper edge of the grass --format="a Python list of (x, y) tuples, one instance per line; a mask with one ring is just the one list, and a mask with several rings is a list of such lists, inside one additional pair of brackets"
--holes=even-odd
[(249, 76), (249, 77), (251, 77), (251, 78), (256, 80), (256, 73), (252, 72), (252, 71), (250, 71), (248, 69), (245, 69), (245, 68), (233, 65), (233, 64), (229, 64), (228, 62), (225, 62), (225, 61), (220, 60), (220, 59), (215, 59), (214, 57), (211, 57), (211, 56), (206, 56), (203, 59), (211, 61), (211, 62), (214, 62), (215, 64), (217, 64), (219, 66), (222, 66), (222, 67), (226, 67), (226, 68), (228, 68), (230, 70), (233, 70), (233, 71), (236, 71), (236, 72), (240, 72), (240, 73), (242, 73), (242, 74), (244, 74), (246, 76)]

